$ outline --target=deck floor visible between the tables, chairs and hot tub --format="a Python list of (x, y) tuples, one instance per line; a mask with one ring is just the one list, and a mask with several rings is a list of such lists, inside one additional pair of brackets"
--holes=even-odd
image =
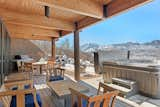
[[(65, 75), (66, 79), (73, 79), (71, 75)], [(37, 92), (40, 93), (42, 99), (42, 107), (57, 107), (54, 102), (56, 101), (53, 97), (52, 92), (49, 87), (46, 85), (46, 76), (37, 75), (33, 76), (34, 86), (37, 89)], [(85, 93), (87, 95), (96, 95), (98, 83), (103, 81), (101, 77), (95, 77), (90, 79), (83, 79), (79, 83), (88, 87), (89, 92)], [(137, 106), (138, 105), (138, 106)], [(60, 106), (58, 106), (60, 107)], [(134, 95), (128, 99), (117, 97), (115, 107), (160, 107), (160, 99), (151, 99), (142, 95)]]

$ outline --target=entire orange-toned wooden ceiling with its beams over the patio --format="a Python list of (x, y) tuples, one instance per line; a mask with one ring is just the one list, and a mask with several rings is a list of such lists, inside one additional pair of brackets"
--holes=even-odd
[[(11, 37), (51, 40), (72, 33), (75, 22), (83, 29), (149, 1), (0, 0), (0, 18)], [(44, 6), (50, 7), (49, 18), (44, 15)]]

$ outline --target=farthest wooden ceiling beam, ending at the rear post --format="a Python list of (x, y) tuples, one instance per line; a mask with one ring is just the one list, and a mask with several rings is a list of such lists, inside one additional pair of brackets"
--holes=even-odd
[(32, 35), (32, 34), (23, 34), (23, 33), (14, 33), (10, 32), (9, 33), (11, 38), (17, 38), (17, 39), (27, 39), (27, 40), (46, 40), (46, 41), (51, 41), (51, 37), (48, 36), (43, 36), (43, 35)]

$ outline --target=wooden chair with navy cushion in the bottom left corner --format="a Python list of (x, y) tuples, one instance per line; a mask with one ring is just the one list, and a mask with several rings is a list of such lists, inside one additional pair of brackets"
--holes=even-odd
[(41, 107), (40, 96), (31, 80), (3, 84), (0, 100), (4, 107)]

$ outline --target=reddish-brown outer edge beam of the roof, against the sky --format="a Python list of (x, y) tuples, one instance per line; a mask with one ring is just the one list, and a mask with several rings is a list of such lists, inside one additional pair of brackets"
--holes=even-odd
[[(106, 17), (105, 19), (111, 18), (117, 14), (120, 14), (122, 12), (128, 11), (130, 9), (133, 9), (137, 6), (140, 6), (144, 3), (151, 2), (152, 0), (112, 0), (106, 7)], [(78, 29), (82, 29), (88, 26), (91, 26), (93, 24), (96, 24), (97, 22), (101, 22), (105, 19), (95, 19), (91, 17), (86, 17), (78, 22)]]

